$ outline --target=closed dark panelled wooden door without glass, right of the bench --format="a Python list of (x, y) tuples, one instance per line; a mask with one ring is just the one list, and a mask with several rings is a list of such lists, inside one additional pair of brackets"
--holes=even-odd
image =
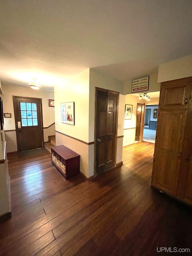
[(119, 93), (96, 88), (95, 175), (115, 166)]

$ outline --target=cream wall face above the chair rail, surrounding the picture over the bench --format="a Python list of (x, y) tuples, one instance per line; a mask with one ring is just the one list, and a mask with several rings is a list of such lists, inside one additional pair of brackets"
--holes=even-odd
[[(88, 142), (89, 69), (55, 86), (54, 92), (55, 130)], [(61, 123), (61, 103), (70, 101), (75, 102), (75, 125)]]

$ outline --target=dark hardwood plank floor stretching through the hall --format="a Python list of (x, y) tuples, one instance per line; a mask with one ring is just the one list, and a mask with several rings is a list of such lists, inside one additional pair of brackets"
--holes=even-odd
[(66, 181), (40, 153), (9, 155), (12, 217), (0, 223), (0, 255), (192, 255), (191, 207), (150, 187), (153, 143), (124, 148), (123, 165), (92, 181)]

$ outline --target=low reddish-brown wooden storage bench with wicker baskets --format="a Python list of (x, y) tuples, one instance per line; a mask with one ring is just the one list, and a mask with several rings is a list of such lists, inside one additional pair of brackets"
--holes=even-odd
[(80, 172), (80, 155), (64, 145), (51, 147), (51, 162), (65, 179)]

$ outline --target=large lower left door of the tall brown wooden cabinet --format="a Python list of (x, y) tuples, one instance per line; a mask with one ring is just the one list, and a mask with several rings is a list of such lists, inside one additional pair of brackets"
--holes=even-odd
[(152, 186), (176, 196), (187, 110), (159, 113)]

